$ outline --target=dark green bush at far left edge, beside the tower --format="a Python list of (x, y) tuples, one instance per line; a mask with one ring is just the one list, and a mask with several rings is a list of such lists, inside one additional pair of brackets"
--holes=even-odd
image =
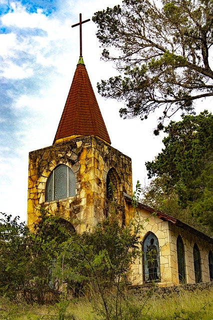
[(0, 295), (14, 298), (24, 292), (29, 280), (30, 256), (26, 237), (28, 230), (19, 217), (1, 213), (0, 218)]

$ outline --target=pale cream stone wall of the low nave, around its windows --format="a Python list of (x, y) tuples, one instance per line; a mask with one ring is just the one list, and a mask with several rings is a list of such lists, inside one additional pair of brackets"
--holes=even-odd
[[(133, 209), (128, 206), (130, 216), (133, 215)], [(177, 249), (176, 239), (178, 234), (183, 240), (185, 250), (185, 271), (186, 282), (194, 283), (194, 266), (193, 266), (193, 244), (196, 242), (200, 250), (201, 257), (201, 271), (202, 281), (209, 281), (209, 268), (208, 268), (208, 252), (212, 250), (212, 244), (208, 243), (199, 236), (177, 227), (169, 221), (163, 221), (156, 215), (150, 214), (145, 209), (137, 209), (137, 214), (143, 224), (143, 229), (139, 233), (140, 249), (142, 251), (142, 242), (148, 232), (153, 232), (158, 238), (159, 242), (159, 255), (160, 255), (160, 281), (157, 282), (158, 286), (178, 285), (178, 266), (177, 266)], [(132, 264), (131, 282), (133, 285), (147, 285), (143, 280), (143, 259), (136, 259)]]

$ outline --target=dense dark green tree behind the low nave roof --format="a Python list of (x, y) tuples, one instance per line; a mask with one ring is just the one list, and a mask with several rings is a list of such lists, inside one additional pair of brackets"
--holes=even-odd
[[(157, 176), (146, 193), (158, 204), (175, 202), (213, 230), (213, 115), (185, 115), (164, 128), (164, 149), (145, 163), (148, 177)], [(167, 212), (168, 213), (168, 212)], [(171, 212), (172, 213), (172, 212)], [(170, 213), (170, 214), (171, 214)]]

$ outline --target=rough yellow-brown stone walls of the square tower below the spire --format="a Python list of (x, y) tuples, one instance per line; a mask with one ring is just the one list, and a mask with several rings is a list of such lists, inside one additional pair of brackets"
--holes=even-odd
[[(58, 164), (72, 169), (76, 195), (45, 202), (46, 181)], [(119, 178), (119, 201), (132, 194), (131, 159), (94, 136), (78, 137), (29, 152), (27, 224), (31, 227), (40, 208), (68, 219), (78, 232), (102, 219), (106, 208), (106, 175), (114, 167)]]

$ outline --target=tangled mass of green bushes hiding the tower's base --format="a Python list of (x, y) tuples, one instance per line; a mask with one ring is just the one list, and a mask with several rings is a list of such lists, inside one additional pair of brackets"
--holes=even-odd
[[(133, 205), (137, 201), (134, 192)], [(141, 254), (140, 228), (136, 212), (128, 225), (110, 213), (81, 234), (68, 221), (43, 210), (33, 232), (18, 223), (17, 217), (2, 214), (0, 294), (27, 303), (60, 301), (60, 320), (67, 298), (92, 296), (97, 314), (106, 320), (121, 319), (128, 310), (123, 308), (123, 299), (130, 265)]]

